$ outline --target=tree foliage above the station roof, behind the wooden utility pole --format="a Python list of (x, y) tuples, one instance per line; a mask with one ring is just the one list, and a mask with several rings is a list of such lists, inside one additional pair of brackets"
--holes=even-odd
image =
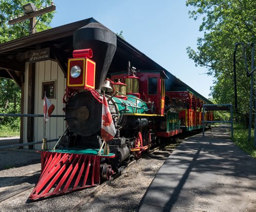
[[(41, 6), (45, 7), (46, 4), (50, 5), (51, 2), (51, 0), (0, 0), (0, 43), (29, 35), (27, 30), (27, 28), (29, 28), (29, 20), (14, 25), (8, 25), (8, 21), (11, 18), (14, 19), (15, 17), (24, 15), (23, 5), (34, 3), (39, 10)], [(54, 12), (42, 15), (36, 25), (36, 32), (50, 29), (53, 15)]]

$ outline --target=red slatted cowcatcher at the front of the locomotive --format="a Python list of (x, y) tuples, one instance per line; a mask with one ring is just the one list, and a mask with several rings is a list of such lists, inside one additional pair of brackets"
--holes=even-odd
[(41, 175), (29, 199), (67, 194), (99, 183), (97, 155), (41, 152)]

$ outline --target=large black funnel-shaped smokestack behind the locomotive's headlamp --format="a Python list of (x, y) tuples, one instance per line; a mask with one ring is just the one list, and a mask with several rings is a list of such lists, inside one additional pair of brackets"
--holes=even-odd
[(95, 89), (100, 92), (116, 51), (116, 34), (101, 23), (89, 23), (73, 34), (74, 49), (91, 48), (96, 62)]

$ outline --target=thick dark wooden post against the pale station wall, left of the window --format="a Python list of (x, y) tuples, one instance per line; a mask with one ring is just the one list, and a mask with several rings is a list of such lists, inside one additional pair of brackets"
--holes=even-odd
[[(34, 114), (34, 99), (35, 99), (35, 63), (29, 64), (28, 69), (28, 114)], [(27, 140), (32, 142), (34, 140), (34, 118), (28, 117), (27, 123)], [(29, 146), (33, 149), (33, 145)]]

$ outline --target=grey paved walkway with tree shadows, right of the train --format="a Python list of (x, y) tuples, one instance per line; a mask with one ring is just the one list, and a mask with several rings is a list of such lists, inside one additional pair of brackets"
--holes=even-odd
[(256, 211), (256, 160), (227, 127), (190, 137), (171, 154), (142, 200), (143, 211)]

